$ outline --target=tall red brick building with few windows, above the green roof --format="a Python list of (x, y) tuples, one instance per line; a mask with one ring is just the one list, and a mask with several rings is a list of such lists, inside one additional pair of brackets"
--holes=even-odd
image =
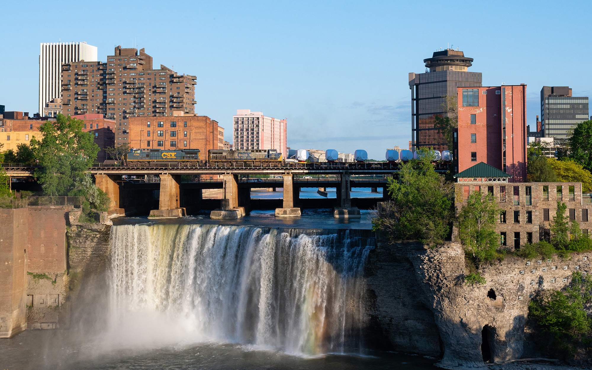
[(526, 181), (526, 85), (458, 88), (458, 172), (479, 162)]

